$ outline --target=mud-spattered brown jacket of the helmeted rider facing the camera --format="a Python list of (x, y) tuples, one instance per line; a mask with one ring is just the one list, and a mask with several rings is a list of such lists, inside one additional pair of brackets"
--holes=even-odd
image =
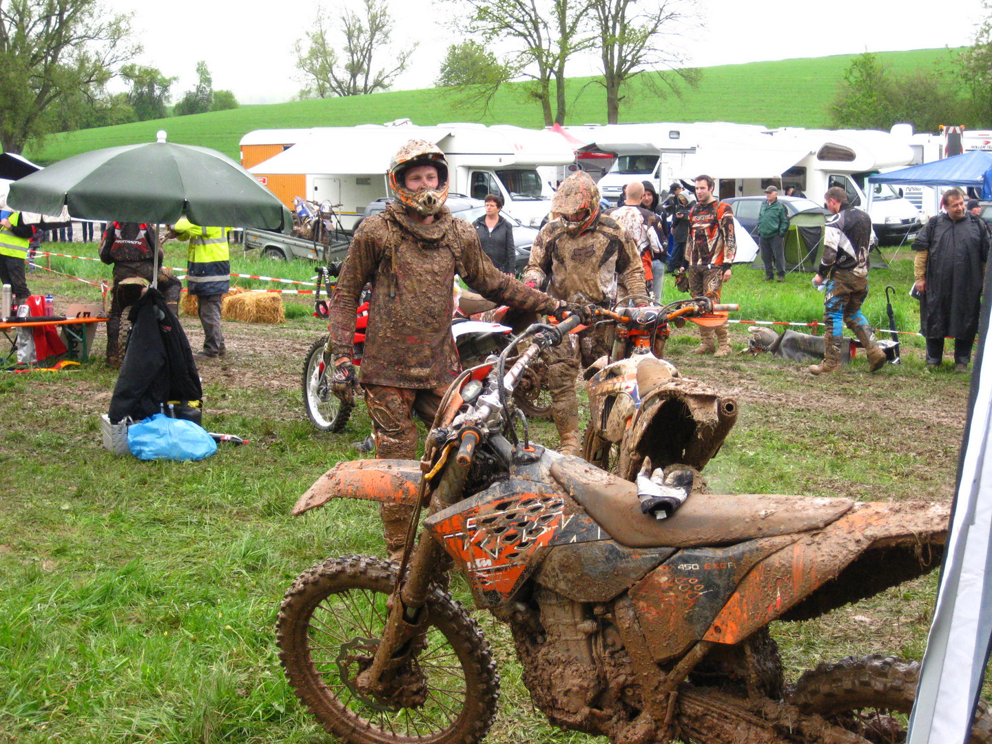
[(503, 274), (468, 222), (442, 207), (430, 225), (402, 206), (365, 219), (355, 231), (331, 298), (330, 344), (350, 356), (358, 296), (372, 283), (359, 380), (397, 388), (436, 388), (458, 374), (451, 335), (454, 275), (492, 302), (552, 312), (558, 302)]

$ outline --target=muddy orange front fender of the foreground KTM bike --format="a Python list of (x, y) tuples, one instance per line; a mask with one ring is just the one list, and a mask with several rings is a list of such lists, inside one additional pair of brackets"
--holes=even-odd
[(421, 490), (418, 460), (348, 460), (325, 472), (293, 507), (293, 515), (323, 506), (331, 499), (368, 499), (393, 504), (417, 503)]

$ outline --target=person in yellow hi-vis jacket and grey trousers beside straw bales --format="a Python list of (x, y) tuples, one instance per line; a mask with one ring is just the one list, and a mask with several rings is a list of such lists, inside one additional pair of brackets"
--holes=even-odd
[(203, 325), (203, 348), (197, 359), (223, 356), (227, 348), (220, 330), (220, 298), (231, 288), (231, 262), (227, 248), (230, 227), (200, 227), (183, 217), (170, 232), (189, 241), (186, 259), (186, 290), (196, 296), (199, 321)]

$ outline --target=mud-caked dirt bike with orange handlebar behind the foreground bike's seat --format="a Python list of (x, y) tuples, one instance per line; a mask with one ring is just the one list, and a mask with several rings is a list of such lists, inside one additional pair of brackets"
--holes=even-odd
[(737, 402), (683, 378), (673, 364), (660, 360), (671, 325), (684, 325), (686, 319), (718, 324), (738, 309), (698, 297), (663, 307), (602, 310), (602, 322), (614, 324), (613, 343), (586, 385), (589, 423), (583, 459), (627, 480), (634, 480), (645, 457), (658, 462), (670, 459), (672, 452), (702, 469), (736, 422)]

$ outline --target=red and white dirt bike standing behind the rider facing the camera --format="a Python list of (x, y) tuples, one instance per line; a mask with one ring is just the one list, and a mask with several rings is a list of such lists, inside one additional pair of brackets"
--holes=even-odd
[[(340, 272), (340, 264), (319, 267), (317, 270), (317, 289), (313, 302), (313, 315), (327, 319), (329, 315), (327, 301), (320, 298), (320, 288), (323, 286), (327, 295), (333, 289), (333, 278)], [(481, 297), (472, 296), (481, 301), (484, 306), (473, 307), (473, 300), (466, 301), (464, 309), (456, 312), (451, 320), (451, 332), (454, 335), (455, 346), (458, 349), (458, 359), (461, 366), (471, 367), (478, 364), (492, 353), (499, 353), (509, 342), (514, 328), (520, 326), (521, 313), (510, 310), (505, 306), (495, 308), (493, 303)], [(355, 318), (355, 335), (353, 340), (352, 363), (361, 365), (362, 351), (365, 345), (365, 329), (368, 325), (368, 290), (359, 299), (357, 316)], [(483, 313), (482, 310), (490, 310)], [(505, 318), (505, 322), (504, 322)], [(525, 325), (526, 327), (526, 325)], [(353, 403), (344, 403), (330, 390), (330, 376), (326, 373), (323, 361), (323, 348), (327, 343), (327, 335), (317, 338), (310, 345), (304, 358), (303, 374), (300, 384), (303, 391), (304, 409), (310, 423), (320, 432), (336, 434), (344, 429), (351, 412)], [(540, 364), (528, 370), (525, 379), (518, 386), (515, 396), (517, 405), (527, 416), (547, 418), (551, 412), (551, 399), (544, 384), (544, 370)], [(353, 398), (361, 400), (362, 392), (355, 381)]]

